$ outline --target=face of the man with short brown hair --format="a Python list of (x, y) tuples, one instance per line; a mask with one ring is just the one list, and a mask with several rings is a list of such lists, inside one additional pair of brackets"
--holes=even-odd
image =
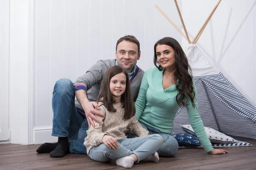
[(137, 44), (129, 41), (120, 42), (116, 48), (116, 59), (118, 65), (130, 73), (136, 65), (137, 59), (140, 59)]

